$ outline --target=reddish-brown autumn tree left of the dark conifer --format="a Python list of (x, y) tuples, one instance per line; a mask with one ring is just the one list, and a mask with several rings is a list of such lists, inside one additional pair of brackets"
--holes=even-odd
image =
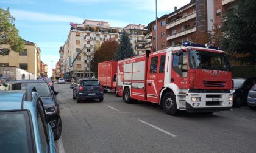
[(98, 63), (102, 61), (113, 60), (116, 50), (118, 48), (118, 42), (115, 40), (107, 40), (101, 44), (101, 46), (94, 51), (93, 58), (90, 61), (91, 70), (94, 73), (98, 72)]

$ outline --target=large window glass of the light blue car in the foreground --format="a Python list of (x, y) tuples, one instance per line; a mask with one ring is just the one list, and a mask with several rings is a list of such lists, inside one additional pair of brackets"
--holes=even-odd
[(33, 152), (27, 111), (0, 112), (1, 152)]

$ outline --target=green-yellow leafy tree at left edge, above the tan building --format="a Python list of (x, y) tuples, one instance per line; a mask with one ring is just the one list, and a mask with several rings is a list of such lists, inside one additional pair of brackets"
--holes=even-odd
[(10, 15), (9, 8), (7, 10), (0, 8), (0, 48), (1, 44), (9, 44), (13, 51), (23, 52), (24, 42), (13, 21), (15, 18)]

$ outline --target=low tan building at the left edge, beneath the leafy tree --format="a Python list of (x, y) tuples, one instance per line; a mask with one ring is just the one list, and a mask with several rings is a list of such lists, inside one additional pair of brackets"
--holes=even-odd
[(36, 78), (40, 77), (41, 50), (37, 47), (37, 44), (26, 40), (23, 41), (25, 50), (20, 53), (11, 50), (9, 45), (1, 45), (2, 49), (7, 50), (7, 55), (2, 56), (0, 52), (0, 69), (1, 67), (15, 66), (34, 74)]

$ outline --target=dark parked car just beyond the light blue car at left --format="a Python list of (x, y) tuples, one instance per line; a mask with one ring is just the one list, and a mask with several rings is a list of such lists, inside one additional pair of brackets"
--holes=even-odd
[(0, 85), (0, 90), (26, 90), (27, 85), (35, 86), (37, 93), (43, 102), (47, 121), (54, 132), (54, 140), (58, 140), (62, 134), (62, 119), (60, 118), (59, 103), (55, 92), (45, 80), (7, 80)]

